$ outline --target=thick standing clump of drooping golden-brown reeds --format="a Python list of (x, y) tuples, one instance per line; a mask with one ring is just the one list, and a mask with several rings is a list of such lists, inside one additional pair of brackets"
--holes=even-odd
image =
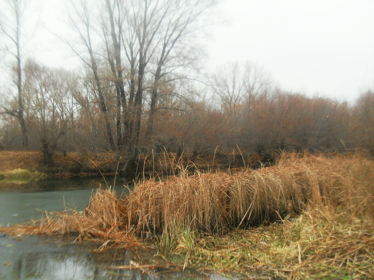
[(360, 182), (353, 175), (362, 172), (364, 165), (370, 165), (365, 168), (370, 170), (372, 162), (291, 154), (283, 155), (273, 167), (257, 170), (181, 172), (165, 181), (147, 180), (126, 198), (127, 222), (137, 231), (161, 233), (187, 227), (223, 233), (299, 214), (307, 203), (345, 203), (357, 211), (370, 205), (359, 201), (364, 197), (369, 202), (365, 192), (370, 189), (356, 187)]

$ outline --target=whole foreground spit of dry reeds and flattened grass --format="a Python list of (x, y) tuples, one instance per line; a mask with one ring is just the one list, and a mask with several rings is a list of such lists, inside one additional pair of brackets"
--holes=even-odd
[[(156, 248), (183, 267), (288, 279), (374, 277), (374, 162), (362, 155), (282, 155), (272, 167), (99, 190), (85, 212), (55, 213), (13, 234)], [(260, 274), (261, 274), (260, 273)]]

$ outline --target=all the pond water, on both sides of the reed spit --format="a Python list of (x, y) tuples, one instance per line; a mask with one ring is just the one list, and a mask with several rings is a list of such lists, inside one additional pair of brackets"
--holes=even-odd
[[(113, 186), (114, 178), (107, 178)], [(117, 193), (128, 193), (126, 179), (116, 179)], [(66, 207), (83, 210), (98, 187), (106, 188), (102, 178), (44, 180), (32, 188), (0, 192), (0, 224), (17, 224), (42, 217), (47, 211), (62, 211)], [(44, 214), (45, 215), (45, 214)], [(0, 235), (0, 279), (239, 279), (199, 271), (146, 271), (113, 269), (129, 266), (139, 258), (132, 249), (97, 252), (98, 245), (71, 244), (57, 237), (30, 236), (15, 239)], [(144, 256), (145, 258), (149, 256)], [(151, 257), (151, 256), (150, 256)]]

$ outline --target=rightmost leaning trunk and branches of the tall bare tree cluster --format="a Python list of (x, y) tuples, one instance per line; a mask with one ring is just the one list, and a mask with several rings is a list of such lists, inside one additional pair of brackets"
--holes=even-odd
[(197, 22), (206, 19), (204, 12), (214, 3), (214, 1), (184, 1), (183, 4), (182, 1), (173, 1), (170, 3), (158, 39), (159, 52), (155, 56), (148, 135), (152, 132), (160, 84), (178, 80), (179, 77), (176, 75), (178, 69), (191, 67), (199, 57), (190, 39), (200, 31), (201, 26)]

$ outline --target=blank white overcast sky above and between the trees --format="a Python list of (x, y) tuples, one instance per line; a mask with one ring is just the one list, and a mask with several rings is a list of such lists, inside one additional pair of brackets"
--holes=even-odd
[[(50, 32), (65, 28), (64, 1), (39, 3), (40, 13), (28, 15), (39, 27), (27, 31), (34, 43), (25, 56), (48, 66), (75, 67), (79, 59)], [(263, 66), (283, 90), (340, 101), (374, 89), (374, 0), (230, 0), (218, 10), (226, 23), (215, 25), (206, 40), (211, 71), (249, 60)]]

